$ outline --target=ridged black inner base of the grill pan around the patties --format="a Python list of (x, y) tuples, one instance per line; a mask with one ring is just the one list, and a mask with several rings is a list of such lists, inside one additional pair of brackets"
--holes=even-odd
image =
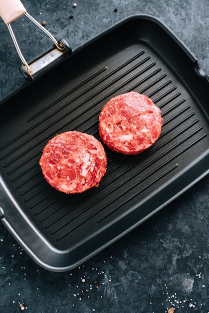
[[(111, 97), (131, 90), (151, 97), (160, 108), (163, 126), (158, 141), (139, 155), (105, 147), (107, 172), (96, 188), (74, 195), (53, 189), (39, 166), (47, 141), (68, 130), (100, 139), (101, 108)], [(3, 125), (2, 136), (7, 139), (0, 147), (0, 161), (24, 213), (57, 247), (61, 242), (68, 247), (69, 238), (76, 243), (91, 236), (140, 205), (208, 144), (208, 126), (194, 100), (172, 70), (140, 42), (99, 60), (89, 72), (69, 75), (63, 90), (39, 98), (25, 114)]]

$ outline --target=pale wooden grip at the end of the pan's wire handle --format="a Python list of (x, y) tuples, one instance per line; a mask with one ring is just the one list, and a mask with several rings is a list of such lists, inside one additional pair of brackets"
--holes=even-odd
[(0, 16), (6, 24), (23, 16), (26, 9), (20, 0), (0, 0)]

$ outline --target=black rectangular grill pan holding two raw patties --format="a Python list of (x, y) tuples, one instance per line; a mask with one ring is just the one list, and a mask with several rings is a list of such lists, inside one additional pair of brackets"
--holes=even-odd
[[(52, 188), (39, 166), (47, 141), (68, 130), (100, 139), (101, 108), (130, 90), (160, 107), (157, 142), (132, 156), (105, 147), (107, 172), (96, 188)], [(41, 266), (81, 264), (208, 173), (208, 99), (207, 76), (163, 23), (149, 15), (116, 23), (1, 102), (2, 222)]]

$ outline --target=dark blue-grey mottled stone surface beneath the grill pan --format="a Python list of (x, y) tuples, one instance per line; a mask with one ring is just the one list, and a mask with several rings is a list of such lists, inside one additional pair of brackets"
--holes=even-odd
[[(207, 0), (23, 0), (37, 20), (75, 48), (122, 18), (161, 19), (209, 72)], [(114, 11), (117, 8), (117, 11)], [(73, 18), (70, 18), (73, 14)], [(14, 31), (27, 59), (49, 41), (26, 17)], [(0, 97), (25, 83), (21, 61), (0, 21)], [(18, 103), (17, 103), (18, 105)], [(0, 312), (209, 311), (209, 177), (81, 266), (64, 273), (37, 265), (0, 224)], [(84, 279), (82, 281), (82, 279)], [(96, 281), (95, 281), (96, 280)], [(96, 287), (98, 285), (98, 288)], [(83, 291), (83, 292), (82, 292)]]

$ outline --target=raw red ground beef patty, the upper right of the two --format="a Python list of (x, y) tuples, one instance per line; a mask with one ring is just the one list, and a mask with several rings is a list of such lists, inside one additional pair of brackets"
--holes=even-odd
[(138, 154), (159, 137), (159, 108), (144, 94), (130, 91), (110, 99), (99, 115), (99, 135), (112, 150)]

